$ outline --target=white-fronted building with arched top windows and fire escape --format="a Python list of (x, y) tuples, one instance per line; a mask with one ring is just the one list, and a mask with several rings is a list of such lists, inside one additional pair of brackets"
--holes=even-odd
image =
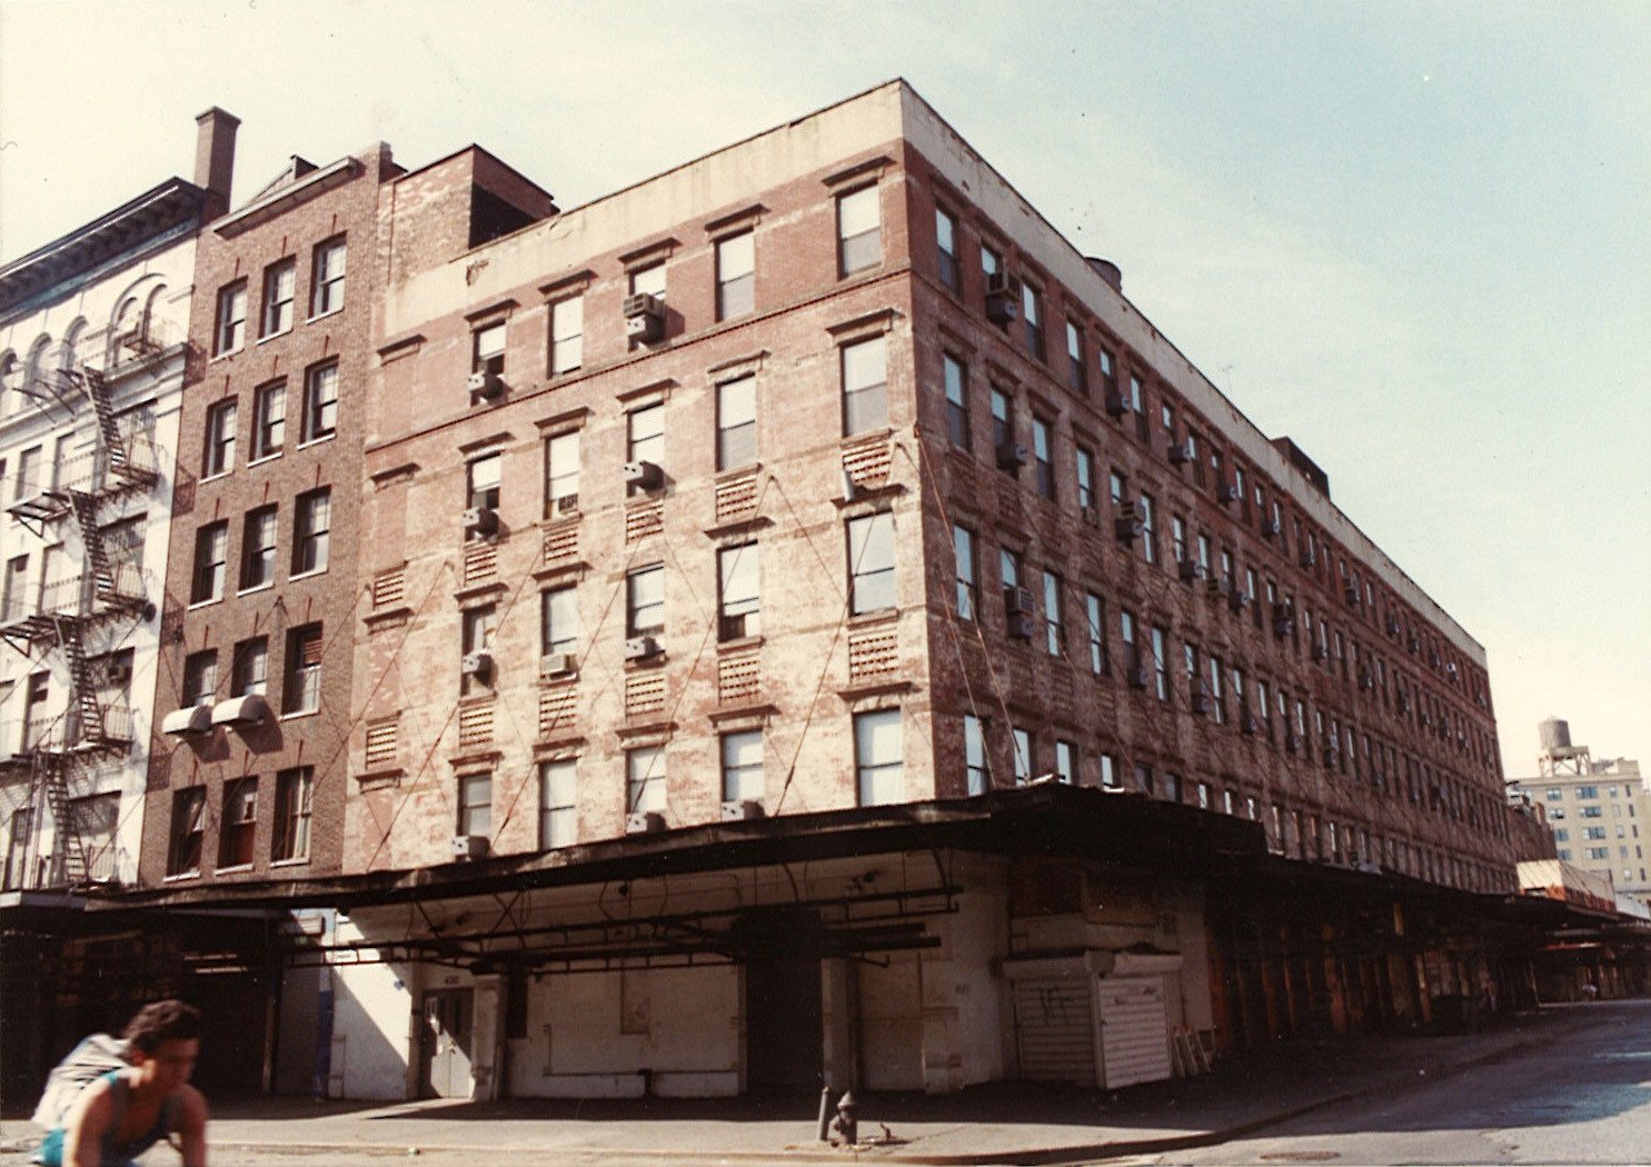
[(81, 908), (139, 876), (195, 233), (228, 196), (221, 162), (200, 139), (193, 183), (0, 267), (0, 1093), (167, 987), (132, 946), (99, 956)]

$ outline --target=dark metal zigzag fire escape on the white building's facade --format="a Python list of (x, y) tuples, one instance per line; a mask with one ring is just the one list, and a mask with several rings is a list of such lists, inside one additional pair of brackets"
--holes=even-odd
[[(61, 654), (69, 695), (59, 716), (45, 718), (28, 710), (18, 739), (7, 743), (15, 753), (5, 764), (12, 772), (28, 774), (28, 806), (38, 809), (43, 804), (53, 822), (56, 843), (51, 870), (43, 873), (45, 883), (78, 886), (99, 873), (92, 870), (94, 857), (88, 853), (83, 824), (76, 822), (69, 787), (84, 769), (119, 758), (132, 746), (130, 708), (106, 703), (99, 695), (101, 683), (121, 678), (109, 675), (107, 660), (94, 675), (88, 639), (99, 629), (147, 621), (155, 614), (154, 602), (144, 594), (139, 565), (111, 560), (99, 513), (127, 495), (154, 489), (158, 474), (154, 449), (130, 442), (121, 432), (101, 371), (81, 365), (59, 370), (56, 376), (59, 385), (41, 378), (21, 391), (48, 418), (56, 413), (53, 406), (61, 406), (71, 423), (76, 403), (89, 401), (97, 421), (96, 447), (89, 457), (54, 467), (54, 485), (17, 498), (8, 512), (46, 543), (59, 523), (73, 523), (79, 535), (81, 571), (66, 579), (43, 581), (36, 599), (8, 598), (0, 612), (0, 639), (35, 659), (40, 669), (50, 669), (53, 654)], [(58, 672), (51, 670), (53, 675)], [(33, 835), (38, 840), (38, 824)], [(111, 839), (111, 850), (112, 845)]]

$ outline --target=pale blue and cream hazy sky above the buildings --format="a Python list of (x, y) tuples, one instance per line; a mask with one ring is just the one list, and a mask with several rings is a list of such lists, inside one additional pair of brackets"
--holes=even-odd
[(1651, 3), (0, 3), (0, 261), (241, 117), (576, 206), (906, 78), (1488, 652), (1651, 768)]

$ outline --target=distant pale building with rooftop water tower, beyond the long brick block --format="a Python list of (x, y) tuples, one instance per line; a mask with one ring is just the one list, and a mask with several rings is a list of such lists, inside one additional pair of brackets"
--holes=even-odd
[[(1544, 807), (1560, 860), (1601, 875), (1616, 891), (1651, 898), (1651, 787), (1631, 758), (1595, 761), (1570, 744), (1570, 725), (1539, 726), (1537, 776), (1509, 786)], [(1644, 834), (1644, 837), (1641, 837)]]

